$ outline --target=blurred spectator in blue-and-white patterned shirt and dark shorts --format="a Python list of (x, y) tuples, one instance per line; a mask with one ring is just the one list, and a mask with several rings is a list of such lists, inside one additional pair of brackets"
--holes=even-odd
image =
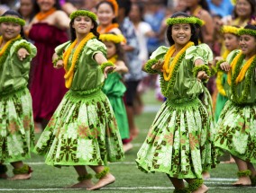
[(133, 108), (137, 87), (142, 80), (142, 61), (138, 58), (139, 42), (133, 28), (133, 23), (127, 17), (131, 10), (131, 1), (117, 0), (117, 4), (119, 5), (117, 21), (119, 23), (119, 28), (127, 41), (127, 43), (123, 45), (123, 49), (126, 52), (128, 61), (126, 65), (128, 66), (129, 73), (124, 75), (124, 82), (127, 87), (127, 91), (125, 93), (125, 105), (131, 138), (123, 141), (123, 145), (129, 144), (126, 145), (126, 147), (130, 149), (132, 148), (132, 144), (130, 143), (131, 140), (139, 134), (139, 129), (135, 126), (134, 122)]

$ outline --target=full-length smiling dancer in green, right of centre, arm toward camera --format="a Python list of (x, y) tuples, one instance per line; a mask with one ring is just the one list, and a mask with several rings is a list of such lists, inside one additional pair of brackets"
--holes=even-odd
[[(208, 113), (198, 99), (201, 80), (210, 75), (206, 44), (198, 45), (196, 18), (175, 13), (168, 20), (170, 48), (160, 47), (144, 70), (160, 75), (167, 98), (154, 119), (136, 162), (142, 171), (166, 173), (174, 192), (206, 192), (202, 171), (215, 167), (215, 148)], [(187, 180), (185, 188), (183, 180)]]

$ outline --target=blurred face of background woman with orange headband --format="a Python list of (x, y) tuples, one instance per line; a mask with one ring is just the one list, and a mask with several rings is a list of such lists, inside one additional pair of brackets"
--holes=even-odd
[(98, 21), (101, 25), (109, 25), (112, 23), (115, 15), (110, 4), (100, 4), (96, 10)]

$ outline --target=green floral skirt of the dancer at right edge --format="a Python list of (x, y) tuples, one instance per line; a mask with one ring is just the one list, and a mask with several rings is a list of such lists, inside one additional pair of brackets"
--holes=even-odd
[(217, 154), (226, 150), (244, 161), (256, 163), (256, 104), (238, 106), (227, 101), (216, 128)]

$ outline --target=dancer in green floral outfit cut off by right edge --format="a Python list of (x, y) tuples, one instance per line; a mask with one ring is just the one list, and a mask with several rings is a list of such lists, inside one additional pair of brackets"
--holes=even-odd
[(217, 153), (228, 151), (238, 167), (233, 186), (255, 186), (256, 171), (256, 26), (238, 31), (240, 48), (231, 52), (219, 68), (227, 73), (224, 85), (228, 101), (217, 123)]

